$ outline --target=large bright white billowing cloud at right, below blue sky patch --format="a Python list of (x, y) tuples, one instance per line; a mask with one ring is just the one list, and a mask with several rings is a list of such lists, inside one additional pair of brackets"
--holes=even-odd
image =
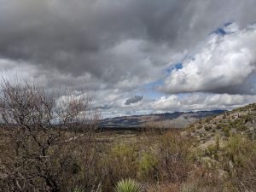
[[(220, 31), (222, 30), (222, 31)], [(160, 88), (168, 93), (208, 91), (254, 94), (256, 24), (239, 30), (236, 23), (218, 29), (183, 61)]]

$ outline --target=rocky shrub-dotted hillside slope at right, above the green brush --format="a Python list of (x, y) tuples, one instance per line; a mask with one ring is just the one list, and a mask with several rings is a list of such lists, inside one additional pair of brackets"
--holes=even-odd
[(256, 139), (256, 103), (201, 119), (190, 125), (186, 133), (200, 143), (212, 143), (216, 135), (223, 140), (235, 134)]

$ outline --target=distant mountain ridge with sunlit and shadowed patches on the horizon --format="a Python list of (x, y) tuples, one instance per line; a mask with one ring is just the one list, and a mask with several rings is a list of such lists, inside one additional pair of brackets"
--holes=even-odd
[(198, 119), (224, 113), (225, 110), (153, 113), (102, 119), (101, 128), (140, 128), (143, 126), (161, 126), (163, 128), (184, 128)]

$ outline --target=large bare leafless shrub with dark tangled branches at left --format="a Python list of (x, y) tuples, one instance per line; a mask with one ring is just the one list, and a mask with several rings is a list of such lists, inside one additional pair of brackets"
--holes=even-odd
[[(64, 190), (79, 166), (76, 143), (91, 139), (97, 115), (91, 98), (60, 96), (42, 84), (2, 81), (0, 112), (0, 189), (9, 191)], [(84, 130), (77, 134), (77, 131)], [(86, 135), (86, 136), (85, 136)], [(88, 148), (88, 147), (87, 147)], [(84, 148), (85, 149), (85, 148)]]

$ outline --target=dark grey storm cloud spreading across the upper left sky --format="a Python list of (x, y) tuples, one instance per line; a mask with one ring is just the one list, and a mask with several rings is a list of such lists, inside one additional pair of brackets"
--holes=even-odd
[(131, 76), (148, 79), (153, 73), (149, 67), (154, 71), (154, 66), (166, 64), (161, 59), (166, 55), (158, 49), (165, 46), (172, 59), (227, 20), (245, 25), (256, 18), (253, 0), (0, 3), (1, 57), (74, 77), (90, 73), (107, 83)]

